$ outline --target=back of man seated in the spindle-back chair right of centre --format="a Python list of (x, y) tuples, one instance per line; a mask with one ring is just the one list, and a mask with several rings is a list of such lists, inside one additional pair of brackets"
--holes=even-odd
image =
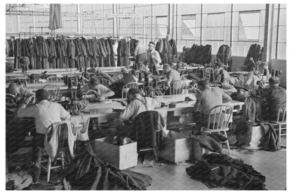
[(214, 106), (222, 104), (223, 91), (220, 88), (209, 88), (201, 92), (201, 107), (205, 115), (208, 115)]

